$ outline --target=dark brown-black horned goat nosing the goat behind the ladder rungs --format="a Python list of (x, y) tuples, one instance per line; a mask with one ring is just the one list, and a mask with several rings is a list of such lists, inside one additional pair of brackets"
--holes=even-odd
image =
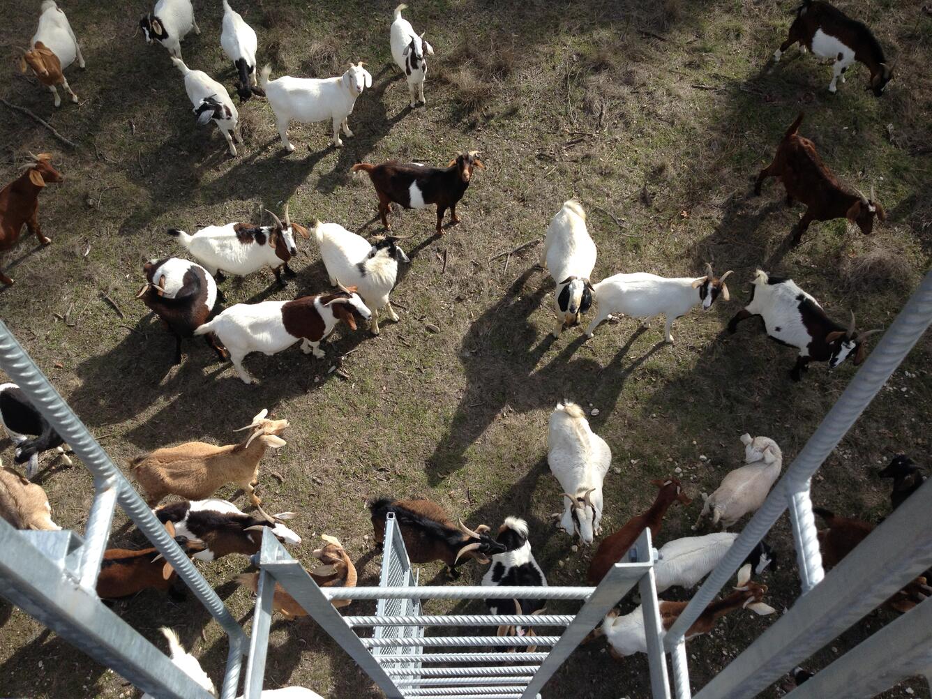
[(487, 556), (507, 550), (503, 543), (492, 539), (486, 525), (479, 525), (474, 531), (462, 520), (458, 520), (459, 526), (454, 525), (444, 508), (431, 500), (381, 498), (370, 503), (369, 511), (378, 547), (385, 540), (385, 517), (394, 513), (411, 563), (443, 561), (454, 580), (459, 578), (456, 567), (460, 561), (474, 558), (485, 565)]

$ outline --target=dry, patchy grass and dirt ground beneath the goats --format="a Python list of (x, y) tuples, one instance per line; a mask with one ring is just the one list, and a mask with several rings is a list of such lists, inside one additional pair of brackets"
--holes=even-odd
[[(0, 0), (8, 56), (34, 32), (38, 5)], [(305, 542), (294, 554), (303, 561), (321, 533), (332, 534), (358, 561), (363, 582), (377, 581), (380, 556), (365, 501), (427, 496), (473, 527), (525, 517), (550, 583), (579, 584), (593, 551), (573, 551), (574, 541), (551, 518), (562, 504), (546, 464), (546, 426), (558, 400), (598, 409), (592, 426), (613, 452), (606, 533), (646, 509), (651, 479), (677, 474), (695, 500), (670, 510), (658, 544), (688, 536), (700, 493), (739, 463), (739, 435), (774, 438), (788, 464), (856, 371), (851, 363), (833, 372), (816, 364), (794, 384), (792, 349), (768, 341), (755, 322), (725, 333), (747, 300), (754, 269), (792, 277), (830, 315), (844, 320), (852, 309), (867, 328), (889, 325), (929, 265), (932, 18), (918, 3), (846, 0), (845, 11), (866, 21), (896, 62), (897, 78), (875, 99), (864, 91), (867, 70), (857, 65), (832, 95), (829, 66), (797, 58), (797, 48), (771, 70), (793, 5), (412, 3), (405, 16), (426, 30), (436, 56), (427, 106), (411, 110), (404, 80), (389, 64), (394, 3), (238, 2), (259, 34), (259, 62), (271, 62), (273, 76), (338, 75), (349, 60), (362, 60), (374, 82), (349, 117), (355, 136), (344, 148), (330, 147), (326, 125), (295, 124), (297, 150), (284, 153), (267, 102), (254, 99), (240, 107), (245, 144), (230, 158), (213, 126), (196, 126), (165, 49), (137, 35), (144, 5), (62, 2), (88, 62), (84, 72), (66, 72), (80, 102), (56, 110), (48, 90), (12, 61), (0, 89), (77, 145), (0, 104), (0, 181), (16, 176), (28, 151), (53, 153), (66, 177), (41, 197), (52, 244), (40, 249), (28, 237), (2, 255), (16, 284), (0, 291), (0, 316), (120, 464), (188, 440), (229, 443), (264, 407), (290, 420), (288, 445), (263, 462), (260, 494), (269, 511), (299, 513), (295, 529)], [(201, 0), (196, 13), (202, 33), (185, 39), (185, 61), (232, 89), (233, 67), (219, 42), (221, 4)], [(875, 187), (887, 221), (872, 236), (834, 221), (812, 226), (791, 248), (789, 230), (802, 208), (788, 210), (773, 180), (752, 197), (754, 177), (801, 110), (802, 134), (843, 182)], [(263, 209), (281, 212), (287, 201), (304, 225), (316, 217), (376, 234), (377, 199), (367, 180), (350, 173), (354, 163), (444, 164), (462, 149), (480, 150), (487, 165), (461, 202), (462, 223), (435, 237), (432, 210), (395, 218), (398, 235), (415, 236), (403, 244), (411, 264), (392, 293), (400, 322), (384, 323), (378, 337), (342, 327), (324, 346), (325, 360), (296, 346), (253, 355), (246, 364), (259, 378), (255, 386), (242, 384), (200, 342), (186, 342), (183, 363), (171, 365), (173, 339), (133, 299), (144, 260), (185, 256), (167, 228), (258, 222)], [(673, 346), (662, 342), (660, 323), (640, 329), (627, 319), (603, 325), (588, 342), (578, 328), (554, 340), (554, 284), (535, 267), (540, 245), (533, 241), (570, 197), (589, 213), (598, 246), (594, 281), (619, 271), (697, 276), (711, 262), (734, 270), (731, 303), (719, 300), (707, 313), (680, 319)], [(268, 271), (226, 281), (226, 304), (326, 289), (316, 244), (298, 246), (294, 281), (281, 288)], [(878, 467), (900, 452), (928, 463), (929, 359), (925, 339), (816, 476), (817, 505), (876, 521), (889, 507)], [(332, 371), (337, 365), (340, 373)], [(8, 443), (3, 458), (12, 459)], [(43, 465), (37, 482), (55, 520), (81, 530), (89, 473), (50, 458)], [(219, 495), (246, 506), (232, 487)], [(769, 541), (782, 566), (766, 576), (767, 601), (782, 611), (799, 594), (786, 518)], [(142, 543), (118, 514), (113, 544)], [(200, 566), (245, 621), (253, 600), (232, 581), (247, 565), (229, 556)], [(421, 580), (445, 583), (435, 577), (439, 570), (425, 567)], [(478, 583), (483, 572), (466, 566), (461, 583)], [(665, 596), (688, 595), (675, 589)], [(158, 644), (158, 626), (177, 629), (219, 683), (226, 640), (193, 599), (174, 604), (146, 592), (114, 609)], [(875, 611), (807, 665), (827, 665), (893, 618)], [(734, 613), (692, 640), (693, 688), (773, 621)], [(289, 684), (332, 699), (379, 696), (307, 620), (273, 625), (267, 687)], [(784, 692), (778, 683), (761, 696)], [(928, 695), (917, 680), (884, 696), (907, 692)], [(139, 694), (0, 602), (0, 695)], [(604, 642), (584, 646), (543, 695), (648, 697), (646, 658), (615, 663)]]

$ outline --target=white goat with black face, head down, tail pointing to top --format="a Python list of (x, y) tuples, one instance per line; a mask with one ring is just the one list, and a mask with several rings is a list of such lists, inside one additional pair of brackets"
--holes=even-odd
[(596, 243), (586, 230), (579, 201), (569, 199), (547, 226), (540, 264), (556, 282), (554, 336), (559, 337), (565, 325), (578, 323), (580, 314), (592, 305), (589, 275), (596, 267)]

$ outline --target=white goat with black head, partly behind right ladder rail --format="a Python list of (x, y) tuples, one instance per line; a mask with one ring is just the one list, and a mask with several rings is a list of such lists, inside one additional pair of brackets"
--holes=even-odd
[[(659, 560), (653, 567), (657, 592), (677, 585), (692, 589), (714, 570), (732, 547), (737, 534), (718, 532), (701, 537), (683, 537), (667, 541), (660, 549)], [(754, 574), (761, 575), (772, 565), (776, 568), (771, 547), (759, 542), (744, 563), (749, 563)]]

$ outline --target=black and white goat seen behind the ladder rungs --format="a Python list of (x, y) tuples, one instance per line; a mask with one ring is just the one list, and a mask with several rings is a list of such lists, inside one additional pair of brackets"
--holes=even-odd
[[(492, 565), (482, 578), (482, 584), (495, 586), (546, 587), (547, 577), (534, 559), (528, 541), (528, 523), (517, 517), (505, 517), (495, 538), (505, 547), (502, 554), (492, 555)], [(490, 614), (539, 614), (544, 599), (487, 599)], [(533, 636), (524, 626), (501, 625), (498, 636)], [(532, 651), (528, 648), (528, 652)]]

